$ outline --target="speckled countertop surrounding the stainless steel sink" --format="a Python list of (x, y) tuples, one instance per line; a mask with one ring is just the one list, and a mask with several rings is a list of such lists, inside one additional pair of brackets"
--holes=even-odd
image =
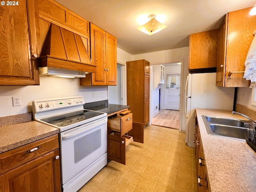
[(255, 192), (256, 152), (245, 141), (208, 135), (202, 115), (246, 119), (231, 111), (196, 109), (212, 192)]

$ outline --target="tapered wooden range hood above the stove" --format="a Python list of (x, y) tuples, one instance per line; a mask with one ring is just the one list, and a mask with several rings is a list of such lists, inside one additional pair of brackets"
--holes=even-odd
[[(40, 75), (57, 76), (61, 71), (65, 74), (70, 70), (79, 72), (79, 76), (76, 77), (95, 73), (96, 66), (92, 64), (85, 44), (82, 36), (51, 24), (39, 57)], [(56, 72), (50, 74), (48, 68), (51, 71), (56, 69)], [(82, 72), (84, 76), (80, 76)]]

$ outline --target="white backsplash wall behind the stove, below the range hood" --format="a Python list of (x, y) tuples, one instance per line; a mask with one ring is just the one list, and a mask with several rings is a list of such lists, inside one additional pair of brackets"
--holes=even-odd
[[(21, 97), (21, 106), (12, 106), (13, 96)], [(86, 103), (108, 99), (106, 86), (80, 86), (79, 79), (40, 76), (39, 86), (0, 86), (0, 117), (32, 112), (32, 100), (68, 96), (83, 96)]]

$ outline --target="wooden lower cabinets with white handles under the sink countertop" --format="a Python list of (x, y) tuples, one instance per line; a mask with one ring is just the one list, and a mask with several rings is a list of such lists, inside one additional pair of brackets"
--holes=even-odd
[(196, 177), (198, 180), (198, 185), (197, 185), (198, 192), (211, 192), (199, 126), (196, 126), (195, 147), (196, 147)]

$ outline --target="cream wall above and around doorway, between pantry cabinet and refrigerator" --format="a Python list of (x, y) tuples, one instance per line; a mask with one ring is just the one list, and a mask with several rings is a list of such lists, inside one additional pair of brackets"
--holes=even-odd
[[(186, 117), (183, 112), (184, 106), (184, 94), (185, 94), (185, 84), (186, 78), (188, 76), (188, 47), (178, 48), (178, 49), (171, 49), (171, 50), (164, 50), (146, 54), (139, 54), (132, 56), (132, 60), (140, 60), (145, 59), (150, 62), (150, 64), (166, 64), (172, 62), (182, 62), (181, 66), (181, 97), (180, 97), (180, 131), (186, 130)], [(150, 68), (151, 70), (151, 68)], [(151, 78), (152, 79), (152, 78)], [(152, 83), (152, 80), (150, 80)], [(150, 92), (150, 98), (152, 98), (152, 92)], [(151, 100), (152, 102), (152, 100)], [(150, 104), (152, 106), (152, 104)], [(150, 110), (150, 123), (151, 123), (151, 110)]]

